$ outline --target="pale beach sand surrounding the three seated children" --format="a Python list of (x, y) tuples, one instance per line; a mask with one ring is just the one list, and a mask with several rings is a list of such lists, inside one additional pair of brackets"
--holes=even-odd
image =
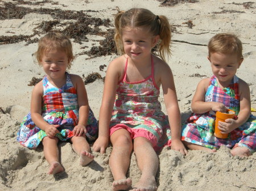
[[(11, 17), (13, 12), (2, 15), (6, 7), (0, 1), (0, 190), (111, 190), (113, 181), (109, 169), (109, 155), (93, 152), (95, 159), (86, 167), (80, 167), (79, 156), (72, 150), (70, 143), (61, 143), (61, 163), (65, 172), (58, 175), (48, 175), (48, 163), (43, 155), (42, 146), (36, 150), (24, 148), (16, 142), (16, 133), (22, 118), (30, 111), (30, 98), (33, 86), (28, 86), (32, 77), (42, 78), (43, 69), (34, 63), (32, 53), (37, 43), (24, 39), (34, 39), (45, 34), (34, 33), (34, 29), (43, 22), (53, 21), (54, 9), (82, 11), (92, 18), (110, 19), (109, 26), (101, 26), (102, 31), (113, 29), (113, 14), (115, 6), (121, 10), (132, 7), (150, 9), (157, 15), (166, 15), (174, 26), (172, 33), (172, 57), (168, 60), (176, 84), (177, 97), (182, 121), (191, 112), (190, 103), (197, 83), (204, 77), (210, 77), (212, 71), (207, 60), (207, 43), (210, 37), (220, 32), (234, 32), (240, 36), (243, 43), (243, 61), (237, 71), (238, 77), (250, 86), (251, 106), (256, 108), (255, 58), (256, 58), (256, 2), (238, 0), (201, 0), (194, 3), (177, 3), (175, 6), (161, 6), (156, 0), (125, 1), (20, 1), (19, 7), (27, 9), (47, 8), (52, 12), (39, 14), (28, 12), (21, 18)], [(36, 2), (40, 2), (36, 4)], [(170, 2), (170, 1), (167, 1)], [(192, 1), (191, 1), (192, 2)], [(8, 4), (10, 6), (10, 4)], [(43, 11), (42, 11), (43, 12)], [(62, 23), (76, 22), (76, 19), (57, 19)], [(91, 26), (94, 28), (95, 26)], [(56, 28), (64, 28), (59, 26)], [(77, 28), (79, 30), (79, 28)], [(5, 36), (23, 37), (17, 43), (3, 43)], [(105, 77), (106, 67), (101, 65), (117, 57), (111, 53), (92, 58), (82, 52), (98, 46), (105, 36), (86, 35), (88, 40), (77, 43), (72, 39), (73, 50), (77, 55), (70, 73), (85, 77), (91, 73), (99, 73)], [(81, 53), (81, 55), (80, 55)], [(86, 84), (90, 107), (98, 118), (104, 83), (97, 79)], [(165, 111), (163, 96), (160, 96), (163, 111)], [(255, 113), (254, 113), (255, 114)], [(189, 151), (187, 156), (165, 147), (159, 155), (160, 166), (156, 175), (158, 190), (255, 190), (256, 189), (256, 154), (248, 158), (230, 155), (230, 150), (221, 147), (216, 153), (204, 151)], [(131, 156), (130, 170), (127, 173), (133, 183), (138, 181), (140, 172), (134, 154)]]

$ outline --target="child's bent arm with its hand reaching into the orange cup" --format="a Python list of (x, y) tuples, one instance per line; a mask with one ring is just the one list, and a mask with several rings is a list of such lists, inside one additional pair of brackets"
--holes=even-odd
[(196, 87), (195, 95), (193, 96), (191, 109), (195, 113), (206, 113), (209, 111), (226, 112), (224, 104), (214, 101), (205, 102), (205, 93), (209, 86), (209, 78), (202, 79)]

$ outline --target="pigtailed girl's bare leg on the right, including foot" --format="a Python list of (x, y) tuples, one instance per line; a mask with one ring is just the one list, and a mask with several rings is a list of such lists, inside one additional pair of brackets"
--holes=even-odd
[(139, 169), (142, 175), (139, 182), (135, 185), (134, 191), (155, 191), (155, 175), (158, 171), (159, 159), (150, 141), (144, 137), (134, 139), (134, 152), (137, 157)]

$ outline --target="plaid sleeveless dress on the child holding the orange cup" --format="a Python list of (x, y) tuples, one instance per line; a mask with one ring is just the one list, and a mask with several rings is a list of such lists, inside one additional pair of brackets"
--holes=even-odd
[[(216, 101), (223, 103), (226, 108), (232, 109), (238, 115), (240, 111), (240, 96), (238, 90), (239, 78), (235, 75), (232, 83), (223, 90), (218, 87), (217, 79), (210, 79), (205, 101)], [(220, 148), (224, 145), (228, 148), (237, 146), (247, 147), (253, 153), (256, 149), (256, 117), (250, 117), (237, 129), (231, 131), (227, 139), (214, 136), (215, 115), (212, 112), (203, 114), (192, 113), (187, 123), (183, 126), (181, 140), (194, 143), (207, 148)]]

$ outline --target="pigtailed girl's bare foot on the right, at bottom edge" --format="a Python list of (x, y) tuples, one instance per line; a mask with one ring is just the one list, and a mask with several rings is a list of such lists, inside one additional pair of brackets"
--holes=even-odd
[(139, 182), (134, 186), (132, 191), (156, 191), (158, 187), (156, 186), (155, 177), (151, 179), (141, 179)]

